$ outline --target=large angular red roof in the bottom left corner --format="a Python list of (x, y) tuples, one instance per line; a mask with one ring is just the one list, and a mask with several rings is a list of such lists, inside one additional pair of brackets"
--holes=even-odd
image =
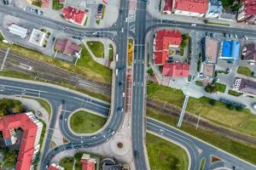
[(23, 130), (23, 136), (15, 169), (29, 170), (32, 164), (38, 126), (25, 113), (5, 116), (0, 119), (0, 131), (3, 131), (3, 139), (10, 139), (9, 130), (18, 127)]

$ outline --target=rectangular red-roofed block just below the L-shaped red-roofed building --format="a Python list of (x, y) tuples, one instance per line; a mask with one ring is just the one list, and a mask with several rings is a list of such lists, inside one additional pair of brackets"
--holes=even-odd
[(189, 77), (189, 65), (187, 63), (166, 63), (162, 75), (166, 77)]

